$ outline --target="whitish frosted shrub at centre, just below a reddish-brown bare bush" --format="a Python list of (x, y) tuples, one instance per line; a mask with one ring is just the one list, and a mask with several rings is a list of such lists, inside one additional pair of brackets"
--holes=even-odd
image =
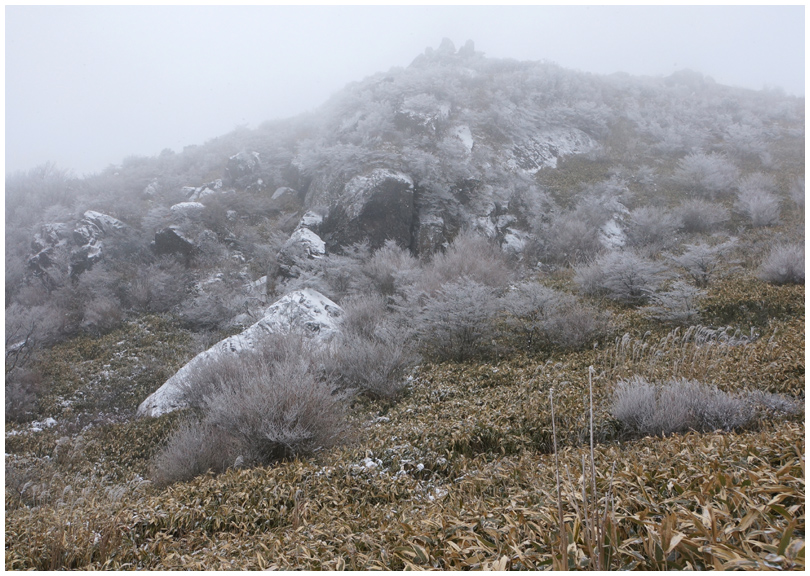
[(456, 361), (490, 354), (495, 347), (497, 296), (494, 288), (462, 277), (425, 297), (412, 319), (422, 352)]

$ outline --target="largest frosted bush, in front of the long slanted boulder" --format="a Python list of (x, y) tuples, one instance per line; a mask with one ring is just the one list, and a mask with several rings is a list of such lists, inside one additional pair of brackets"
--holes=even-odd
[(157, 477), (171, 482), (221, 471), (238, 456), (266, 464), (333, 445), (346, 430), (348, 394), (326, 376), (323, 358), (296, 335), (269, 337), (256, 350), (198, 367), (186, 392), (199, 422), (181, 429), (156, 458), (155, 468), (164, 469)]

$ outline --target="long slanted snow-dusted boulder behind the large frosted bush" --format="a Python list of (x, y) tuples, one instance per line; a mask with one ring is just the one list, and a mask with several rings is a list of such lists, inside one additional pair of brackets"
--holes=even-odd
[(240, 334), (225, 338), (197, 354), (138, 407), (138, 416), (160, 416), (185, 408), (186, 390), (198, 367), (229, 355), (239, 355), (259, 346), (269, 334), (299, 332), (316, 340), (328, 340), (338, 331), (343, 310), (329, 298), (311, 289), (296, 290), (280, 298), (264, 317)]

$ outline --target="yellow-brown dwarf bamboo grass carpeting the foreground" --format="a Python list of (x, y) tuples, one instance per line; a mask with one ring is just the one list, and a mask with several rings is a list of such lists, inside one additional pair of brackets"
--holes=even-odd
[[(744, 346), (647, 333), (630, 315), (625, 338), (585, 352), (425, 364), (398, 402), (358, 400), (353, 438), (338, 449), (162, 490), (143, 478), (180, 415), (73, 432), (9, 435), (7, 424), (6, 569), (589, 568), (595, 526), (603, 568), (804, 569), (803, 414), (642, 439), (608, 414), (616, 379), (630, 374), (803, 399), (804, 287), (763, 294), (737, 297), (785, 310), (771, 305)], [(82, 346), (89, 359), (73, 365), (109, 372), (103, 347)]]

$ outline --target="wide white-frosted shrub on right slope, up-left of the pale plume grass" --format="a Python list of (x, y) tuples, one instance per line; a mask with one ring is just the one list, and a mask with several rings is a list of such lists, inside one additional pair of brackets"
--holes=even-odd
[(665, 278), (666, 267), (633, 251), (608, 252), (575, 268), (574, 282), (585, 294), (625, 304), (644, 304)]

